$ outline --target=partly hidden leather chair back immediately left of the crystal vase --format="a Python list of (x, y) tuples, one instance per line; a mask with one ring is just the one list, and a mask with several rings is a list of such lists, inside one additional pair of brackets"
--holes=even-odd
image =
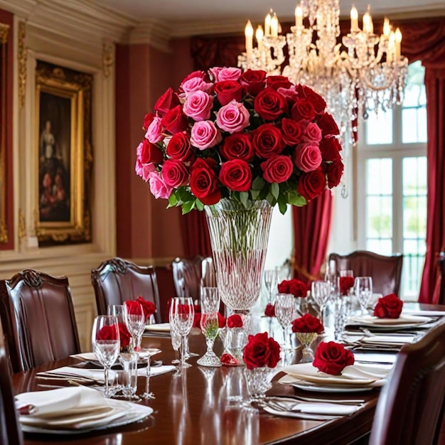
[(203, 257), (197, 255), (191, 259), (176, 258), (171, 267), (176, 295), (191, 296), (193, 301), (199, 300)]

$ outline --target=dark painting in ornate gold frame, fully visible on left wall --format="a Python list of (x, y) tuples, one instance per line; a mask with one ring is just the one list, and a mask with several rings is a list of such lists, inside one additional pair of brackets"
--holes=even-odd
[(91, 242), (92, 75), (38, 61), (36, 235)]

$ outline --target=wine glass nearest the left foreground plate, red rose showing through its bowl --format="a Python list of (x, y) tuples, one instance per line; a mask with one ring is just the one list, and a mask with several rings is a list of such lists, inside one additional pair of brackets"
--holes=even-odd
[(108, 374), (119, 355), (119, 326), (115, 316), (100, 315), (95, 318), (91, 333), (92, 350), (104, 367), (105, 397), (111, 397)]

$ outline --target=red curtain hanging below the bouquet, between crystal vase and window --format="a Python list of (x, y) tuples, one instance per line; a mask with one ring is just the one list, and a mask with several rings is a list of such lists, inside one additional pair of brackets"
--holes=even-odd
[(316, 279), (326, 259), (331, 230), (332, 193), (325, 190), (304, 207), (293, 207), (294, 278), (304, 282)]

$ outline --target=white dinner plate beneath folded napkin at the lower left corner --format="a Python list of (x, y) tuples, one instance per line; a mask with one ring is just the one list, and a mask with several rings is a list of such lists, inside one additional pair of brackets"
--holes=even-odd
[[(124, 402), (122, 400), (109, 400), (109, 404), (114, 407), (115, 414), (105, 419), (99, 419), (96, 424), (90, 424), (90, 426), (85, 428), (63, 428), (57, 425), (48, 428), (34, 426), (28, 422), (28, 424), (21, 423), (21, 429), (26, 433), (32, 434), (85, 434), (90, 431), (122, 427), (133, 422), (139, 422), (139, 420), (149, 417), (153, 412), (153, 408), (151, 407), (132, 402)], [(123, 415), (122, 409), (125, 411)], [(23, 416), (20, 419), (22, 418)]]

